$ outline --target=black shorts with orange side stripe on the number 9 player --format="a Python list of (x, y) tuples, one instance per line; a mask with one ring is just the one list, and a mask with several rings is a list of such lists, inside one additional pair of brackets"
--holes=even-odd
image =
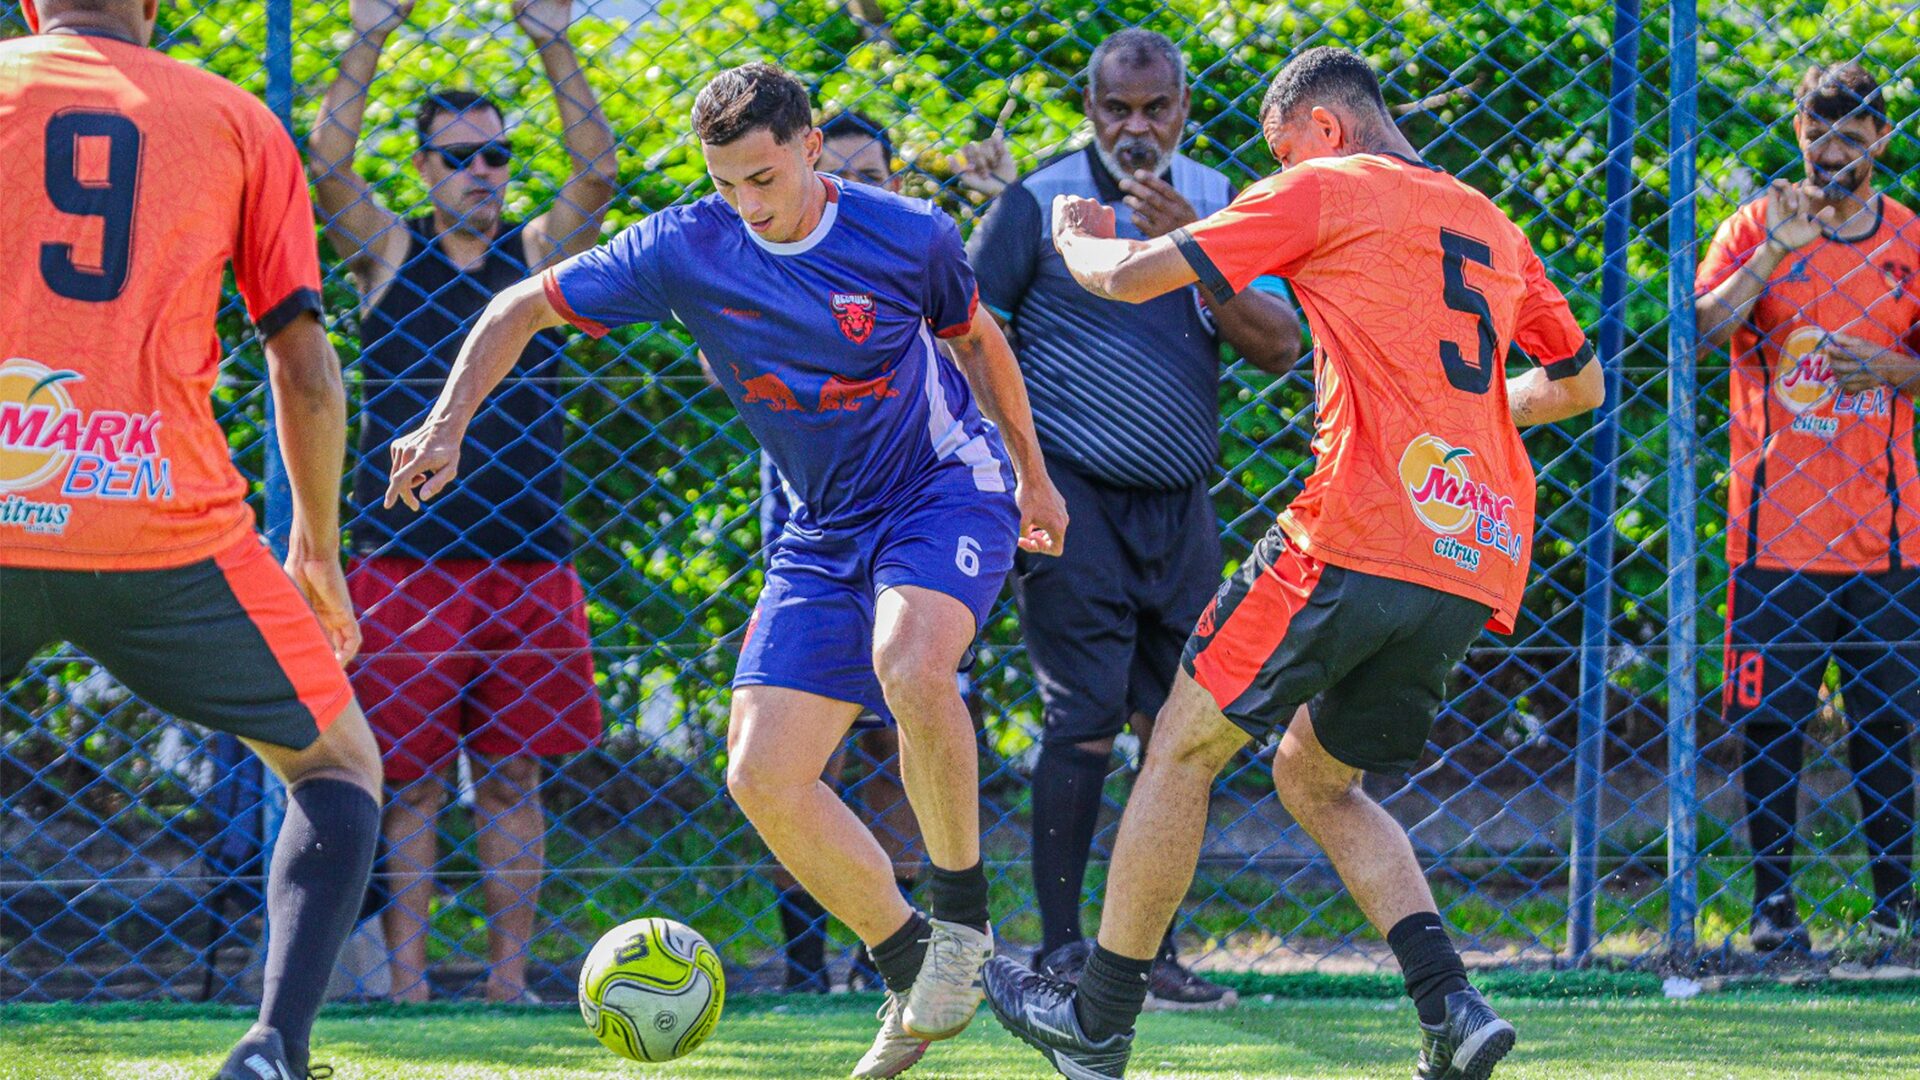
[(257, 536), (165, 571), (0, 567), (0, 686), (71, 642), (146, 703), (305, 749), (353, 701), (319, 619)]

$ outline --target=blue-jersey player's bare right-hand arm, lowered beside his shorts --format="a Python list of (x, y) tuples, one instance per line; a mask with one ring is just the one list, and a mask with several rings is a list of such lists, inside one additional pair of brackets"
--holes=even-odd
[(1058, 555), (1068, 544), (1068, 503), (1046, 475), (1041, 440), (1033, 434), (1027, 382), (1020, 375), (1014, 348), (1000, 323), (985, 306), (973, 309), (973, 323), (960, 336), (947, 338), (960, 373), (966, 375), (979, 411), (1000, 429), (1006, 454), (1020, 480), (1020, 548)]

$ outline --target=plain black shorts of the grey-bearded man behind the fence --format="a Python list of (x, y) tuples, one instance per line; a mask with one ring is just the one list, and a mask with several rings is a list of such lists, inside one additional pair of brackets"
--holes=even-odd
[(1041, 690), (1041, 738), (1071, 746), (1160, 711), (1223, 559), (1204, 480), (1154, 492), (1102, 484), (1056, 459), (1048, 473), (1071, 536), (1066, 555), (1014, 557), (1014, 601)]

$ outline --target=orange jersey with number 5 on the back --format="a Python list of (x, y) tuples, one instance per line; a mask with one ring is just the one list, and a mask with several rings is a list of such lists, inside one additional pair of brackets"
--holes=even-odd
[(1288, 167), (1175, 242), (1215, 296), (1288, 279), (1313, 327), (1313, 475), (1281, 528), (1306, 553), (1494, 609), (1511, 632), (1534, 469), (1507, 409), (1519, 346), (1592, 359), (1526, 236), (1442, 169), (1357, 154)]

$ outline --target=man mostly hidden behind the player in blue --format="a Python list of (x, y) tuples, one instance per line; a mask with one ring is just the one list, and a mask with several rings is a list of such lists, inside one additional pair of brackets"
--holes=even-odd
[[(820, 163), (822, 173), (835, 175), (856, 184), (870, 184), (899, 194), (900, 175), (893, 171), (893, 136), (885, 127), (856, 111), (843, 111), (820, 123)], [(705, 359), (705, 357), (703, 357)], [(708, 373), (710, 375), (710, 373)], [(793, 507), (787, 503), (787, 490), (780, 482), (774, 459), (760, 455), (760, 542), (772, 544), (780, 530), (787, 527)], [(960, 694), (968, 698), (966, 675), (960, 676)], [(972, 709), (970, 709), (972, 711)], [(847, 751), (854, 755), (854, 778), (847, 778)], [(920, 824), (914, 821), (914, 807), (906, 801), (906, 788), (900, 786), (900, 732), (891, 719), (876, 713), (862, 713), (854, 721), (854, 736), (843, 742), (828, 761), (826, 782), (845, 788), (845, 794), (860, 809), (874, 830), (874, 838), (893, 861), (893, 878), (900, 886), (900, 896), (912, 903), (918, 884), (920, 859), (908, 851), (920, 840)], [(774, 888), (780, 890), (780, 930), (785, 938), (787, 990), (826, 994), (831, 990), (828, 970), (828, 913), (785, 867), (776, 863)], [(879, 969), (868, 955), (864, 944), (854, 947), (852, 965), (847, 970), (849, 990), (883, 990)]]

